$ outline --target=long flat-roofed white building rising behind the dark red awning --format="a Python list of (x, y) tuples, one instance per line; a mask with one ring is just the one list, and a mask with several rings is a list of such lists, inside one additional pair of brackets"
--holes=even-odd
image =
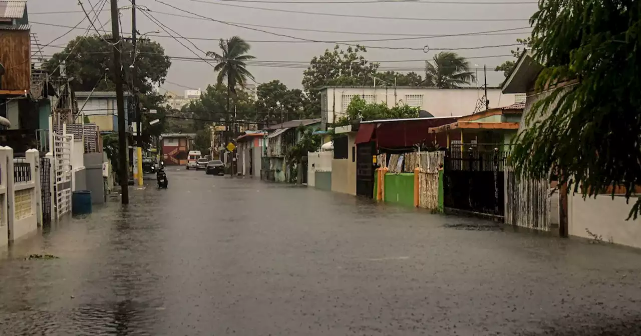
[[(366, 102), (385, 103), (387, 106), (407, 104), (428, 111), (433, 116), (470, 115), (485, 110), (483, 88), (419, 88), (414, 86), (379, 87), (372, 86), (325, 86), (320, 89), (320, 109), (324, 125), (333, 124), (346, 115), (347, 106), (354, 96)], [(501, 88), (488, 88), (490, 108), (509, 106), (524, 102), (525, 96), (504, 94)]]

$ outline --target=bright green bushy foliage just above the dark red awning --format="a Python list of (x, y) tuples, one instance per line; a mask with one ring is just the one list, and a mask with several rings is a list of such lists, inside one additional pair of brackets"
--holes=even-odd
[(337, 126), (348, 125), (354, 120), (380, 120), (380, 119), (397, 119), (397, 118), (417, 118), (419, 108), (412, 108), (405, 104), (389, 108), (385, 103), (367, 103), (361, 97), (354, 96), (349, 106), (347, 106), (347, 116), (338, 119)]

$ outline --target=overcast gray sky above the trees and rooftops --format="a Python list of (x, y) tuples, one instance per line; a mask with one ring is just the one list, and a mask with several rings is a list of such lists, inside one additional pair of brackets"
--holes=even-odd
[[(82, 0), (85, 8), (89, 9), (96, 4), (102, 5), (103, 0)], [(99, 16), (101, 22), (109, 19), (109, 1), (107, 0), (103, 12)], [(171, 28), (179, 35), (187, 38), (229, 38), (238, 35), (249, 41), (251, 54), (261, 61), (278, 62), (268, 66), (250, 66), (249, 70), (256, 77), (258, 83), (279, 79), (292, 88), (301, 87), (303, 77), (302, 68), (290, 68), (294, 63), (285, 61), (301, 61), (308, 63), (313, 56), (322, 54), (325, 49), (332, 48), (333, 44), (317, 42), (294, 42), (292, 38), (275, 36), (238, 26), (230, 26), (220, 22), (213, 22), (207, 19), (197, 19), (193, 14), (181, 12), (181, 10), (202, 15), (215, 20), (233, 22), (235, 24), (252, 24), (258, 26), (246, 26), (254, 29), (261, 29), (271, 33), (290, 35), (298, 38), (311, 40), (337, 41), (337, 40), (372, 40), (387, 38), (416, 38), (421, 35), (449, 35), (472, 33), (479, 31), (497, 31), (499, 29), (524, 28), (528, 27), (527, 20), (537, 9), (535, 0), (417, 0), (417, 1), (395, 1), (372, 3), (335, 3), (345, 0), (137, 0), (139, 6), (147, 6), (149, 12), (155, 19)], [(258, 1), (271, 1), (270, 3), (258, 3)], [(315, 1), (315, 4), (288, 3), (290, 1)], [(368, 0), (354, 0), (368, 1)], [(322, 3), (320, 3), (322, 2)], [(334, 3), (333, 3), (334, 2)], [(484, 3), (485, 2), (485, 3)], [(488, 3), (492, 2), (492, 3)], [(503, 2), (503, 3), (501, 3)], [(320, 3), (320, 4), (319, 4)], [(131, 4), (129, 0), (120, 0), (119, 6)], [(247, 8), (237, 7), (244, 6)], [(96, 6), (97, 8), (98, 6)], [(287, 10), (297, 12), (328, 13), (331, 15), (311, 15), (306, 13), (277, 12), (272, 10), (260, 10), (257, 8), (271, 8), (274, 10)], [(77, 0), (28, 0), (29, 20), (32, 22), (31, 31), (38, 35), (41, 44), (47, 44), (54, 38), (62, 35), (69, 28), (46, 26), (46, 24), (60, 24), (74, 26), (85, 16), (81, 12)], [(49, 13), (49, 12), (73, 12), (73, 13)], [(171, 13), (175, 15), (170, 15)], [(188, 17), (179, 17), (183, 15)], [(369, 17), (390, 17), (397, 19), (379, 19), (365, 17), (344, 17), (337, 15), (359, 15)], [(161, 35), (167, 35), (162, 28), (152, 22), (149, 17), (142, 13), (137, 15), (138, 31), (161, 31)], [(415, 18), (420, 20), (407, 20)], [(425, 20), (439, 19), (439, 20)], [(447, 20), (444, 20), (447, 19)], [(454, 20), (449, 20), (454, 19)], [(461, 20), (462, 19), (462, 20)], [(489, 20), (488, 20), (489, 19)], [(457, 21), (458, 20), (458, 21)], [(122, 30), (131, 32), (131, 12), (125, 10), (121, 16)], [(265, 28), (260, 26), (271, 26), (279, 28), (313, 29), (324, 31), (338, 31), (341, 33), (324, 33), (318, 31), (292, 30)], [(88, 20), (78, 26), (79, 29), (54, 42), (54, 45), (65, 45), (77, 35), (85, 33), (90, 28)], [(167, 29), (165, 28), (165, 29)], [(111, 29), (107, 24), (105, 29)], [(167, 29), (171, 35), (178, 34)], [(360, 43), (372, 47), (409, 47), (422, 49), (429, 45), (430, 49), (438, 48), (469, 48), (491, 45), (504, 45), (515, 43), (516, 38), (524, 38), (529, 35), (531, 29), (519, 29), (513, 31), (501, 31), (492, 33), (494, 35), (476, 36), (449, 36), (440, 38), (421, 38), (412, 40), (395, 41), (374, 41), (374, 42), (349, 42), (350, 44)], [(368, 33), (376, 35), (354, 34)], [(403, 35), (399, 35), (403, 34)], [(408, 36), (405, 36), (407, 34)], [(509, 34), (509, 35), (508, 35)], [(419, 36), (410, 36), (419, 35)], [(164, 37), (156, 37), (154, 40), (165, 47), (169, 56), (185, 56), (195, 58), (196, 56), (176, 40)], [(191, 40), (203, 51), (217, 51), (217, 40)], [(270, 41), (270, 42), (260, 42)], [(278, 42), (274, 42), (278, 41)], [(199, 57), (204, 54), (198, 51), (190, 43), (181, 40), (183, 44), (197, 52)], [(347, 47), (347, 46), (345, 46)], [(475, 58), (482, 56), (509, 55), (510, 50), (515, 47), (493, 47), (486, 49), (457, 50), (461, 56), (470, 58), (470, 65), (487, 65), (488, 85), (496, 86), (503, 80), (503, 74), (494, 72), (494, 67), (511, 56)], [(53, 54), (60, 51), (60, 48), (47, 47), (45, 54)], [(392, 49), (368, 49), (367, 58), (370, 61), (381, 61), (381, 68), (395, 68), (400, 70), (414, 70), (420, 73), (424, 67), (425, 59), (431, 59), (438, 51), (425, 53), (422, 50), (392, 50)], [(404, 62), (386, 62), (389, 60), (415, 60)], [(483, 72), (478, 72), (479, 81), (483, 81)], [(207, 84), (215, 82), (213, 68), (203, 62), (188, 62), (173, 60), (169, 70), (167, 81), (187, 86), (189, 88), (205, 88)], [(172, 92), (181, 93), (185, 88), (176, 84), (165, 83), (163, 88)]]

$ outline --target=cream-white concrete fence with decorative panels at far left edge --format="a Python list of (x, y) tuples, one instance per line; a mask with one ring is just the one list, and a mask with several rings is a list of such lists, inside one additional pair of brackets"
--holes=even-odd
[(42, 222), (39, 152), (29, 149), (13, 157), (0, 146), (0, 246), (37, 232)]

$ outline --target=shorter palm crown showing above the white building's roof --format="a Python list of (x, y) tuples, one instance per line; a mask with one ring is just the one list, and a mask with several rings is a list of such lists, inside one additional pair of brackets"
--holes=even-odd
[(434, 55), (434, 64), (425, 65), (425, 80), (422, 86), (437, 86), (438, 88), (460, 88), (474, 81), (474, 72), (464, 57), (456, 52), (443, 51)]

